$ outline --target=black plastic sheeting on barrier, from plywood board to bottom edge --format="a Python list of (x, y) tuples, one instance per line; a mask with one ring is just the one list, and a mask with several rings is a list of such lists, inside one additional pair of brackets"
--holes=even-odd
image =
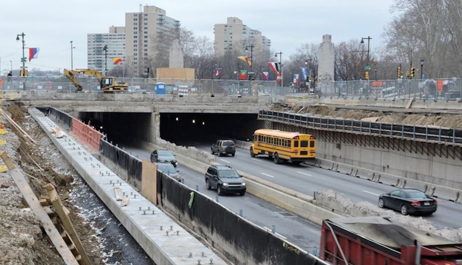
[[(324, 264), (163, 173), (158, 172), (157, 183), (158, 193), (161, 195), (159, 203), (162, 206), (168, 201), (176, 207), (180, 215), (185, 217), (185, 220), (189, 219), (198, 224), (202, 229), (200, 232), (205, 233), (206, 238), (210, 239), (211, 235), (216, 234), (219, 238), (226, 240), (235, 253), (240, 253), (241, 257), (247, 259), (239, 260), (231, 252), (223, 253), (233, 264)], [(191, 192), (195, 194), (190, 209), (188, 204)], [(216, 242), (211, 243), (216, 244)], [(227, 249), (225, 246), (221, 248)]]

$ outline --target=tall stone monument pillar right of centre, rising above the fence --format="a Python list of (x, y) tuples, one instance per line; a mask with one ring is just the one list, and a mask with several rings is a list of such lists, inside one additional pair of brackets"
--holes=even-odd
[(319, 67), (318, 67), (318, 88), (323, 95), (334, 93), (334, 44), (332, 36), (325, 34), (319, 45)]

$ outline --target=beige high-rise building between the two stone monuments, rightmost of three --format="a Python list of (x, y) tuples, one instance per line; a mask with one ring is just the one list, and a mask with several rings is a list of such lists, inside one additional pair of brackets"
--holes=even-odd
[(254, 52), (269, 50), (271, 40), (261, 35), (256, 29), (247, 27), (242, 20), (230, 17), (226, 24), (215, 24), (215, 55), (222, 56), (227, 52), (244, 52), (245, 46), (254, 45)]

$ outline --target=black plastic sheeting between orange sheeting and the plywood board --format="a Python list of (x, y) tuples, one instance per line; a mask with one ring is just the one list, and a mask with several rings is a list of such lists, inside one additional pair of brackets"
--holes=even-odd
[(134, 158), (103, 139), (99, 143), (99, 155), (111, 160), (120, 168), (126, 169), (128, 183), (135, 188), (141, 189), (141, 173), (143, 171), (143, 162), (141, 160)]

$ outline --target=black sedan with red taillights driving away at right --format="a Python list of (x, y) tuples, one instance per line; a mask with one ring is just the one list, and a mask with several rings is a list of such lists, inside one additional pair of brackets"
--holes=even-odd
[(432, 214), (436, 212), (438, 202), (418, 189), (402, 188), (380, 195), (378, 206), (398, 210), (403, 215), (409, 213)]

